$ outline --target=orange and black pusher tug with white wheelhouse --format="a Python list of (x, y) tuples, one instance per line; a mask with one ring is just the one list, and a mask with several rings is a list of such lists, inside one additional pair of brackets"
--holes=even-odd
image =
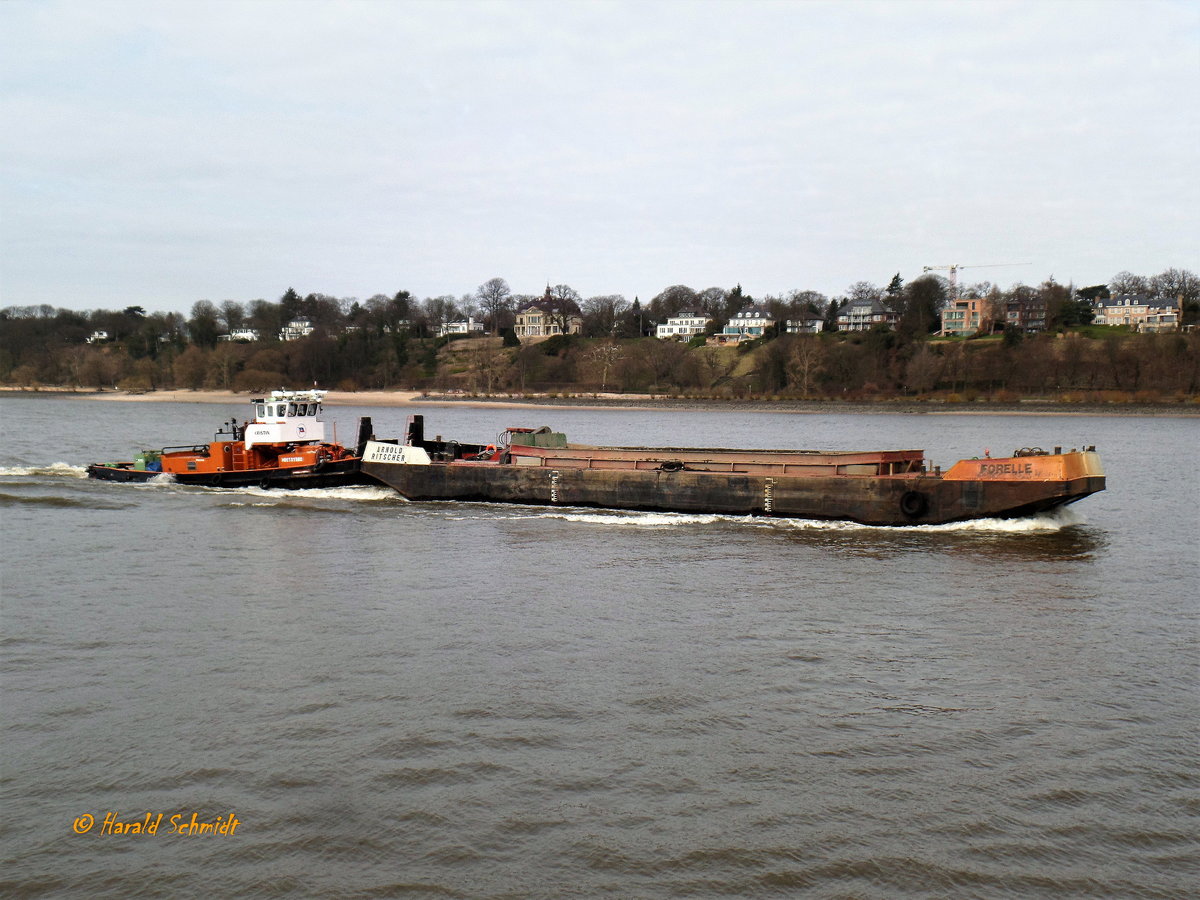
[(170, 475), (181, 485), (208, 487), (343, 487), (372, 484), (360, 463), (371, 419), (359, 419), (354, 449), (325, 440), (325, 391), (271, 391), (251, 401), (253, 420), (222, 422), (206, 444), (144, 450), (132, 462), (88, 467), (104, 481), (149, 481)]

